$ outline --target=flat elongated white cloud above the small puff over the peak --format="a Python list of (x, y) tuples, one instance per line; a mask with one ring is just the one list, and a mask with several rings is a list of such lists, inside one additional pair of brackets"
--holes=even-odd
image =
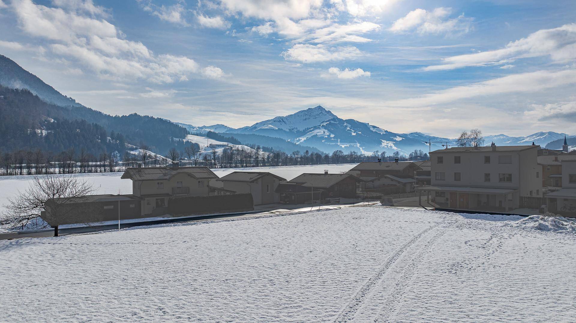
[(353, 46), (327, 48), (321, 44), (296, 44), (287, 51), (282, 52), (282, 56), (286, 60), (301, 61), (302, 63), (354, 59), (361, 55), (362, 52)]

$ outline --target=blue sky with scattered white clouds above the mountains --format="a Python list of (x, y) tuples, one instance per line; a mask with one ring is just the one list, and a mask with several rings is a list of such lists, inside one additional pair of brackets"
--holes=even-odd
[(576, 134), (575, 1), (0, 0), (0, 53), (111, 114)]

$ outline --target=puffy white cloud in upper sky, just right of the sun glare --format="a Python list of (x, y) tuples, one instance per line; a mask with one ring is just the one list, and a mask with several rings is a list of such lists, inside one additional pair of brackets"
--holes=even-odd
[(471, 28), (471, 18), (461, 14), (457, 18), (449, 19), (451, 8), (439, 7), (433, 11), (416, 9), (410, 11), (405, 17), (396, 20), (388, 29), (392, 32), (411, 32), (416, 30), (420, 34), (450, 34), (467, 33)]

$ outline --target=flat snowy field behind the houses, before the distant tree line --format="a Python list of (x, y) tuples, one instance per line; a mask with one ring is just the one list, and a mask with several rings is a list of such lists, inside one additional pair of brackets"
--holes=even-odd
[[(357, 164), (331, 164), (331, 165), (309, 165), (309, 166), (278, 166), (278, 167), (249, 167), (249, 168), (220, 168), (213, 170), (219, 177), (228, 175), (233, 171), (264, 171), (271, 172), (288, 180), (304, 172), (321, 173), (328, 170), (331, 173), (340, 173), (350, 170)], [(73, 174), (86, 179), (93, 184), (96, 191), (94, 194), (132, 194), (132, 181), (130, 179), (120, 179), (122, 172), (112, 173), (86, 173)], [(0, 176), (0, 213), (4, 211), (3, 205), (8, 202), (8, 198), (14, 198), (18, 190), (25, 191), (33, 181), (29, 175), (22, 176)], [(213, 181), (210, 184), (221, 186), (221, 182)], [(0, 232), (6, 232), (8, 228), (0, 225)]]

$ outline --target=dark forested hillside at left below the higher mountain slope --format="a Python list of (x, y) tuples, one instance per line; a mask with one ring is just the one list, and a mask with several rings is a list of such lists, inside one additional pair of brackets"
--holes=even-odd
[[(84, 149), (89, 153), (125, 150), (125, 143), (146, 145), (165, 155), (187, 130), (149, 116), (109, 116), (85, 106), (58, 106), (42, 101), (28, 90), (0, 86), (0, 148), (3, 151), (41, 148), (60, 152)], [(111, 139), (109, 140), (108, 137)], [(181, 148), (181, 147), (179, 147)]]

